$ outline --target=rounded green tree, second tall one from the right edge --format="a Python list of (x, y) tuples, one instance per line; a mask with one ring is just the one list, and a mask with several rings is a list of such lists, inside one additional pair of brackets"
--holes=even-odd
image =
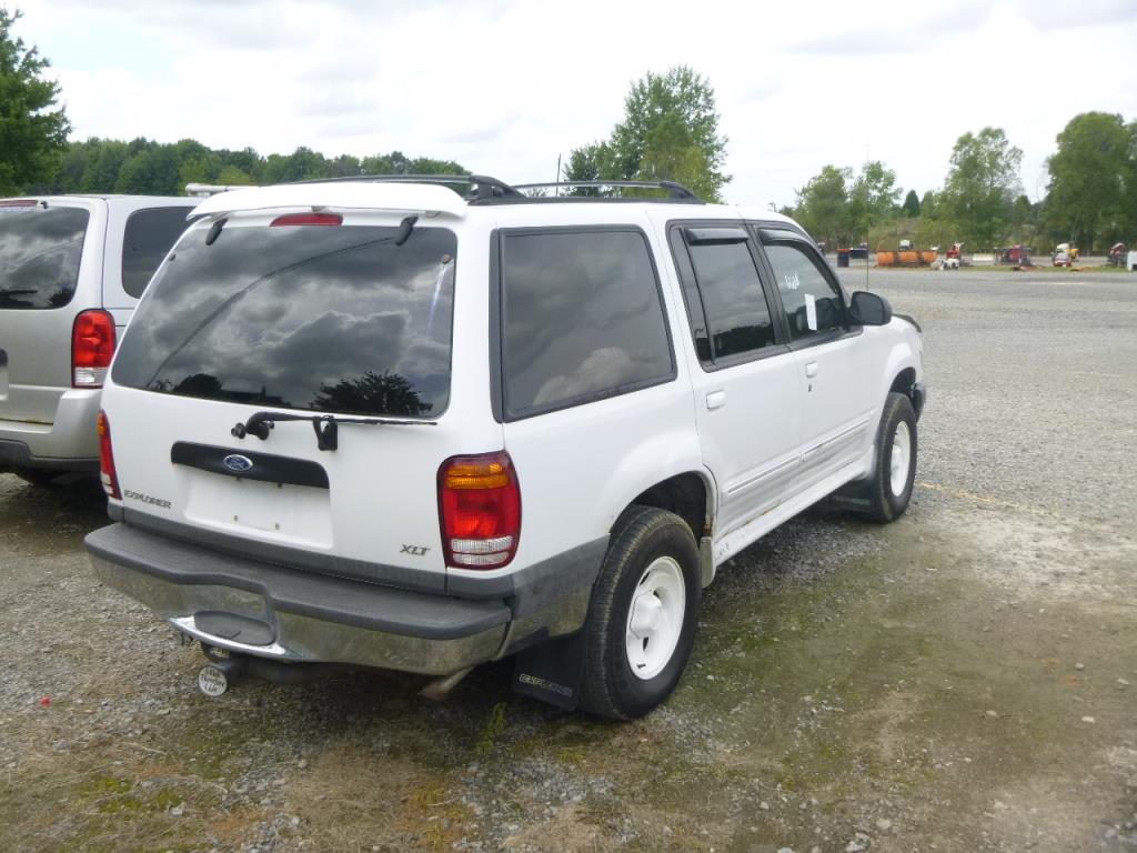
[(951, 164), (939, 199), (941, 214), (958, 224), (962, 239), (973, 248), (994, 247), (1010, 229), (1021, 190), (1022, 151), (1002, 129), (984, 127), (956, 140)]

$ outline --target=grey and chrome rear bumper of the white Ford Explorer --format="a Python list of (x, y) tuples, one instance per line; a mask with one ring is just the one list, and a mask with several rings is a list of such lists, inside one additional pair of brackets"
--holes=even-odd
[(526, 637), (549, 636), (583, 618), (579, 595), (517, 619), (501, 598), (456, 598), (297, 571), (124, 523), (96, 530), (85, 545), (103, 582), (179, 631), (208, 646), (283, 662), (445, 676), (515, 649), (525, 639), (520, 628)]

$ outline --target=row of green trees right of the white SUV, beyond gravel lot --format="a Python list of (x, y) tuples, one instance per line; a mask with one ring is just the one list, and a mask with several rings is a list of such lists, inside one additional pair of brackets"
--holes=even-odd
[(1047, 159), (1049, 182), (1038, 201), (1022, 192), (1021, 165), (1022, 151), (1006, 133), (984, 127), (956, 140), (943, 187), (922, 197), (908, 190), (902, 202), (896, 173), (878, 160), (860, 174), (827, 165), (783, 212), (831, 246), (890, 249), (910, 239), (1041, 250), (1068, 241), (1090, 251), (1137, 241), (1137, 121), (1107, 113), (1071, 118)]

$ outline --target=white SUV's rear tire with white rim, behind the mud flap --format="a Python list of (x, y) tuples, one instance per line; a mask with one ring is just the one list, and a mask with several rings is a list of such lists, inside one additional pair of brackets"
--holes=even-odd
[(589, 603), (581, 709), (630, 720), (667, 698), (695, 645), (700, 595), (687, 522), (654, 507), (628, 510)]

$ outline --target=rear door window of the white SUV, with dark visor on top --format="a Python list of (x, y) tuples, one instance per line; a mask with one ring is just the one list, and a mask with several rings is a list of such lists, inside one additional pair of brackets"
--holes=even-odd
[(773, 321), (747, 232), (741, 227), (688, 227), (682, 234), (686, 250), (680, 250), (677, 237), (672, 246), (684, 279), (699, 361), (713, 363), (773, 346)]

